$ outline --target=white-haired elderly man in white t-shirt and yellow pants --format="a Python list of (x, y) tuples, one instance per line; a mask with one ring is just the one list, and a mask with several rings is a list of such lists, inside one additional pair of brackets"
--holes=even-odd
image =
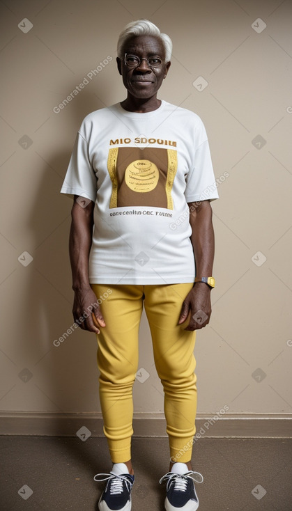
[[(77, 134), (62, 193), (74, 195), (70, 231), (73, 315), (98, 340), (100, 404), (110, 473), (100, 511), (130, 511), (132, 386), (143, 306), (164, 389), (169, 436), (165, 509), (195, 511), (191, 465), (197, 407), (195, 330), (210, 320), (217, 198), (199, 116), (159, 100), (171, 40), (146, 19), (118, 40), (127, 97), (90, 113)], [(213, 191), (210, 191), (213, 190)], [(91, 313), (92, 312), (92, 313)], [(153, 453), (155, 460), (155, 453)]]

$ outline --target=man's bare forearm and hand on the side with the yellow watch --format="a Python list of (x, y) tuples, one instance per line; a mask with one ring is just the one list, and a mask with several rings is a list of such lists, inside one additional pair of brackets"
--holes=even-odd
[[(196, 275), (210, 277), (213, 272), (215, 251), (212, 207), (210, 201), (188, 203), (190, 224), (192, 226), (192, 247), (196, 262)], [(199, 330), (206, 327), (211, 315), (211, 289), (204, 282), (194, 284), (183, 301), (178, 324), (183, 323), (190, 313), (190, 322), (185, 330)]]

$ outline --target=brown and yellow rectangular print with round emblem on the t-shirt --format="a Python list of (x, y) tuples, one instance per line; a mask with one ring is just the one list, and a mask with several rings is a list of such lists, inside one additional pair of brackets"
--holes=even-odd
[(109, 149), (107, 170), (112, 180), (109, 207), (155, 206), (173, 210), (171, 189), (177, 166), (174, 149)]

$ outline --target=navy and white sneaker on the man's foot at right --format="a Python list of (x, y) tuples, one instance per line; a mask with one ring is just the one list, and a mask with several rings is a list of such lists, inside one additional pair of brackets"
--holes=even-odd
[[(181, 471), (181, 468), (178, 471)], [(165, 481), (167, 481), (167, 496), (164, 501), (166, 511), (196, 511), (199, 508), (194, 481), (203, 482), (201, 473), (192, 470), (185, 473), (168, 472), (160, 479), (160, 484)]]

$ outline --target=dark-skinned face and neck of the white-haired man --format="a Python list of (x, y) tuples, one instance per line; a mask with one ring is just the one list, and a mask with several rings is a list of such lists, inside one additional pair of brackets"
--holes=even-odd
[(139, 36), (129, 39), (123, 47), (123, 54), (137, 55), (139, 58), (160, 56), (160, 68), (151, 69), (146, 61), (141, 61), (137, 68), (128, 68), (123, 59), (117, 58), (118, 71), (123, 77), (123, 84), (128, 91), (127, 99), (121, 106), (131, 112), (149, 112), (160, 107), (157, 92), (167, 76), (170, 62), (164, 63), (165, 52), (162, 42), (155, 37)]

